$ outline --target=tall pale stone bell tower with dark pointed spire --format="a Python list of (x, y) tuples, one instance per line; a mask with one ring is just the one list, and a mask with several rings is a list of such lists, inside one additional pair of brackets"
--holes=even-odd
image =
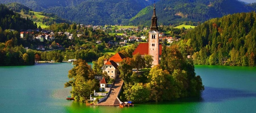
[(149, 30), (149, 55), (153, 56), (153, 66), (158, 65), (159, 61), (159, 31), (157, 17), (155, 13), (155, 4), (153, 16), (151, 17), (151, 26)]

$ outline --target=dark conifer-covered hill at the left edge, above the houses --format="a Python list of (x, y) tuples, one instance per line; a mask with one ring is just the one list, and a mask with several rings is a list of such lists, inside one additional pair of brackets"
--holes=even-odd
[(33, 21), (21, 18), (20, 14), (10, 11), (5, 5), (0, 4), (0, 30), (5, 29), (36, 29)]

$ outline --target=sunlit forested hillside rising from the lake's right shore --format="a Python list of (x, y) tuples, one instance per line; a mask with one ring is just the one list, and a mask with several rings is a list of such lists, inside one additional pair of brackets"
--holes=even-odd
[(194, 64), (256, 65), (256, 13), (236, 13), (208, 20), (178, 42), (183, 55)]

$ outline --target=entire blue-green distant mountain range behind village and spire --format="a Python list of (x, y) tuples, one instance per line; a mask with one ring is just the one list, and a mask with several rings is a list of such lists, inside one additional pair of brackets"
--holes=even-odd
[[(150, 25), (154, 0), (1, 0), (33, 11), (54, 13), (71, 22), (93, 25)], [(238, 0), (156, 0), (159, 25), (197, 25), (210, 18), (254, 11)]]

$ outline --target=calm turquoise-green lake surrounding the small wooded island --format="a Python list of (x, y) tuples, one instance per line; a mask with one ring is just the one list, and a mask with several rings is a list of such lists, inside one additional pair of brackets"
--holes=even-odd
[(196, 65), (205, 86), (201, 97), (135, 104), (130, 108), (86, 106), (66, 100), (71, 63), (0, 67), (1, 113), (252, 113), (256, 67)]

